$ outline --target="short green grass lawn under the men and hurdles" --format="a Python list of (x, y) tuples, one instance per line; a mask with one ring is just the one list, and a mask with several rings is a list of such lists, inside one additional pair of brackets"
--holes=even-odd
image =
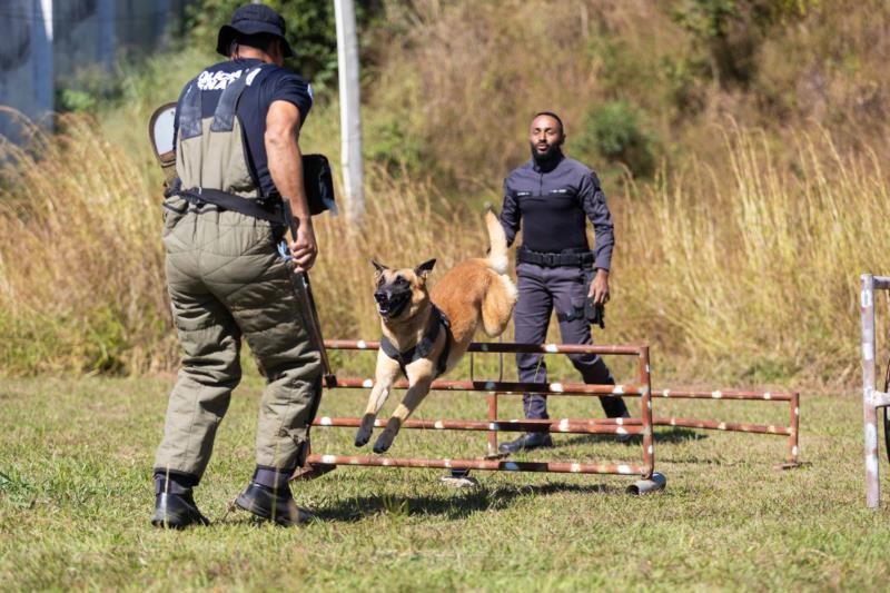
[[(781, 437), (660, 429), (662, 494), (629, 496), (631, 480), (615, 476), (479, 472), (479, 488), (455, 491), (435, 471), (339, 468), (296, 485), (318, 520), (284, 530), (226, 514), (253, 471), (261, 383), (247, 378), (196, 492), (214, 525), (169, 533), (148, 517), (171, 384), (0, 385), (0, 590), (866, 591), (890, 577), (888, 511), (864, 508), (852, 392), (804, 395), (801, 447), (811, 465), (797, 471), (773, 470)], [(365, 397), (326, 395), (322, 414), (356, 415)], [(561, 398), (551, 409), (576, 416), (590, 404)], [(787, 419), (780, 404), (655, 406), (659, 415)], [(477, 394), (433, 394), (418, 415), (482, 418), (485, 409)], [(505, 397), (502, 417), (518, 414), (518, 402)], [(354, 451), (350, 429), (314, 435), (316, 452)], [(639, 455), (639, 446), (605, 438), (557, 438), (561, 446), (528, 458)], [(484, 442), (484, 434), (406, 431), (390, 453), (476, 456)]]

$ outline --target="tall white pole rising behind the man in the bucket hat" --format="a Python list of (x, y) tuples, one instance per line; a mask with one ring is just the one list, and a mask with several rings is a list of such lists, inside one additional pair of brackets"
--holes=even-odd
[(337, 20), (337, 66), (340, 91), (340, 138), (343, 188), (346, 216), (360, 224), (365, 214), (364, 164), (362, 161), (362, 115), (358, 89), (358, 34), (353, 0), (334, 0)]

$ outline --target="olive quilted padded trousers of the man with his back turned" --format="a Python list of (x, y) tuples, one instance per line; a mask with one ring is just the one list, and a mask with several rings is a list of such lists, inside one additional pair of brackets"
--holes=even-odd
[(266, 377), (256, 462), (291, 470), (306, 452), (322, 388), (318, 345), (270, 225), (212, 206), (165, 201), (164, 245), (174, 325), (184, 350), (156, 472), (200, 480), (241, 377), (241, 336)]

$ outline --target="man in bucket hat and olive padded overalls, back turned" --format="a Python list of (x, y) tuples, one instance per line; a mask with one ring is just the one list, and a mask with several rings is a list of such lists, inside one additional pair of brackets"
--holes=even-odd
[[(318, 251), (297, 144), (312, 90), (281, 68), (293, 55), (284, 36), (284, 19), (268, 7), (239, 8), (219, 30), (217, 51), (229, 61), (189, 81), (177, 105), (182, 191), (165, 200), (164, 245), (185, 356), (155, 457), (156, 526), (208, 524), (192, 488), (241, 377), (241, 336), (267, 386), (256, 471), (236, 504), (281, 525), (309, 516), (294, 504), (287, 478), (307, 453), (322, 388), (319, 345), (307, 332), (308, 312), (293, 283), (294, 273), (309, 269)], [(214, 196), (237, 204), (222, 208), (212, 204)], [(283, 197), (298, 224), (293, 269), (276, 250), (285, 227), (241, 214), (257, 207), (280, 214)], [(248, 208), (237, 206), (245, 201)]]

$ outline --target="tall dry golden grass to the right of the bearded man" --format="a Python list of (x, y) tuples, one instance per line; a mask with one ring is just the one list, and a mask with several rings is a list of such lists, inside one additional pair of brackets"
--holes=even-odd
[(620, 209), (613, 309), (681, 375), (852, 380), (859, 275), (890, 269), (879, 158), (824, 130), (719, 134), (726, 174), (693, 162)]

